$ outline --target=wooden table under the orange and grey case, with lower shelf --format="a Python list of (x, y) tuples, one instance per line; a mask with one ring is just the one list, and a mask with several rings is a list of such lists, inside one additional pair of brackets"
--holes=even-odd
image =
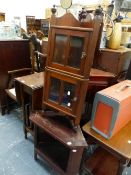
[[(106, 174), (122, 175), (126, 167), (131, 164), (131, 149), (129, 138), (131, 137), (131, 122), (123, 127), (111, 139), (106, 139), (93, 129), (90, 121), (82, 129), (88, 137), (89, 147), (96, 144), (97, 148), (92, 151), (83, 161), (83, 174)], [(93, 150), (93, 149), (92, 149)]]

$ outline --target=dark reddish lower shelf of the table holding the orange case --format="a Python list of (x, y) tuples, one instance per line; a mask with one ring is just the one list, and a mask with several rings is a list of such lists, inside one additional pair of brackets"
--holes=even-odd
[(87, 147), (83, 156), (81, 175), (117, 175), (119, 167), (118, 159), (101, 147), (97, 147), (89, 155), (89, 147)]

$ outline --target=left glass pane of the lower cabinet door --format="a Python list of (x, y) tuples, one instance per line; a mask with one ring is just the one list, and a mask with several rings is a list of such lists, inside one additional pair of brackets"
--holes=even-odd
[(56, 78), (51, 78), (51, 86), (50, 86), (50, 94), (49, 99), (55, 102), (59, 100), (59, 92), (60, 92), (60, 80)]

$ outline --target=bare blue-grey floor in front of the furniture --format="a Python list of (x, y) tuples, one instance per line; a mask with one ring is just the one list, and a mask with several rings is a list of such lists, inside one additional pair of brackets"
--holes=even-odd
[(31, 135), (24, 138), (18, 111), (0, 115), (0, 175), (56, 175), (39, 157), (34, 160)]

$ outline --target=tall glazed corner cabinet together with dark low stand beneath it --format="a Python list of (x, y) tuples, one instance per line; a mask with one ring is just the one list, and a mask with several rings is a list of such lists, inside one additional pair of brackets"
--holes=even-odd
[(32, 113), (30, 120), (34, 123), (35, 159), (39, 154), (60, 174), (78, 173), (87, 146), (79, 124), (101, 28), (102, 21), (95, 18), (79, 22), (70, 13), (51, 18), (45, 110)]

